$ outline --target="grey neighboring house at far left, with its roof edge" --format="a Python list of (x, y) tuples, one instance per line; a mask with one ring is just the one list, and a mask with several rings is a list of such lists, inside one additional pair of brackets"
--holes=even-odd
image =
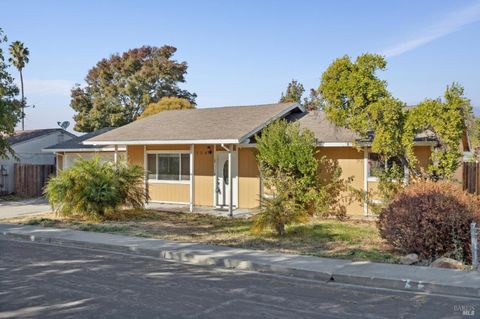
[(17, 158), (0, 159), (0, 192), (10, 194), (15, 191), (15, 163), (55, 165), (55, 156), (42, 152), (42, 149), (73, 137), (75, 135), (61, 128), (17, 131), (8, 137)]

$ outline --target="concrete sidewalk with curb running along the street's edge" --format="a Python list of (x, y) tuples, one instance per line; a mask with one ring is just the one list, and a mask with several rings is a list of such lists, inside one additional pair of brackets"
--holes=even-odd
[(12, 239), (151, 256), (320, 281), (480, 298), (480, 273), (269, 253), (58, 228), (0, 224)]

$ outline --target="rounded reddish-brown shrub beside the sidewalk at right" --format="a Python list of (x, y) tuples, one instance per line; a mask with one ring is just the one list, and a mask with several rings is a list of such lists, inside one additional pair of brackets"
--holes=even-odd
[(380, 235), (404, 253), (471, 261), (470, 223), (479, 221), (478, 197), (451, 182), (416, 182), (381, 211)]

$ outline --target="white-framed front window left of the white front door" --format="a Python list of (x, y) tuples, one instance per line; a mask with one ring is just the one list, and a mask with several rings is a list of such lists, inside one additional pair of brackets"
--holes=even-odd
[(149, 180), (189, 181), (190, 154), (147, 154), (147, 170)]

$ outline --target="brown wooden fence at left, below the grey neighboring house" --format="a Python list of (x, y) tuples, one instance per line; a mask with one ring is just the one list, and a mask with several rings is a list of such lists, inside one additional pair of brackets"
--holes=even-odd
[(42, 196), (43, 187), (55, 174), (55, 165), (15, 164), (15, 193), (20, 196)]

